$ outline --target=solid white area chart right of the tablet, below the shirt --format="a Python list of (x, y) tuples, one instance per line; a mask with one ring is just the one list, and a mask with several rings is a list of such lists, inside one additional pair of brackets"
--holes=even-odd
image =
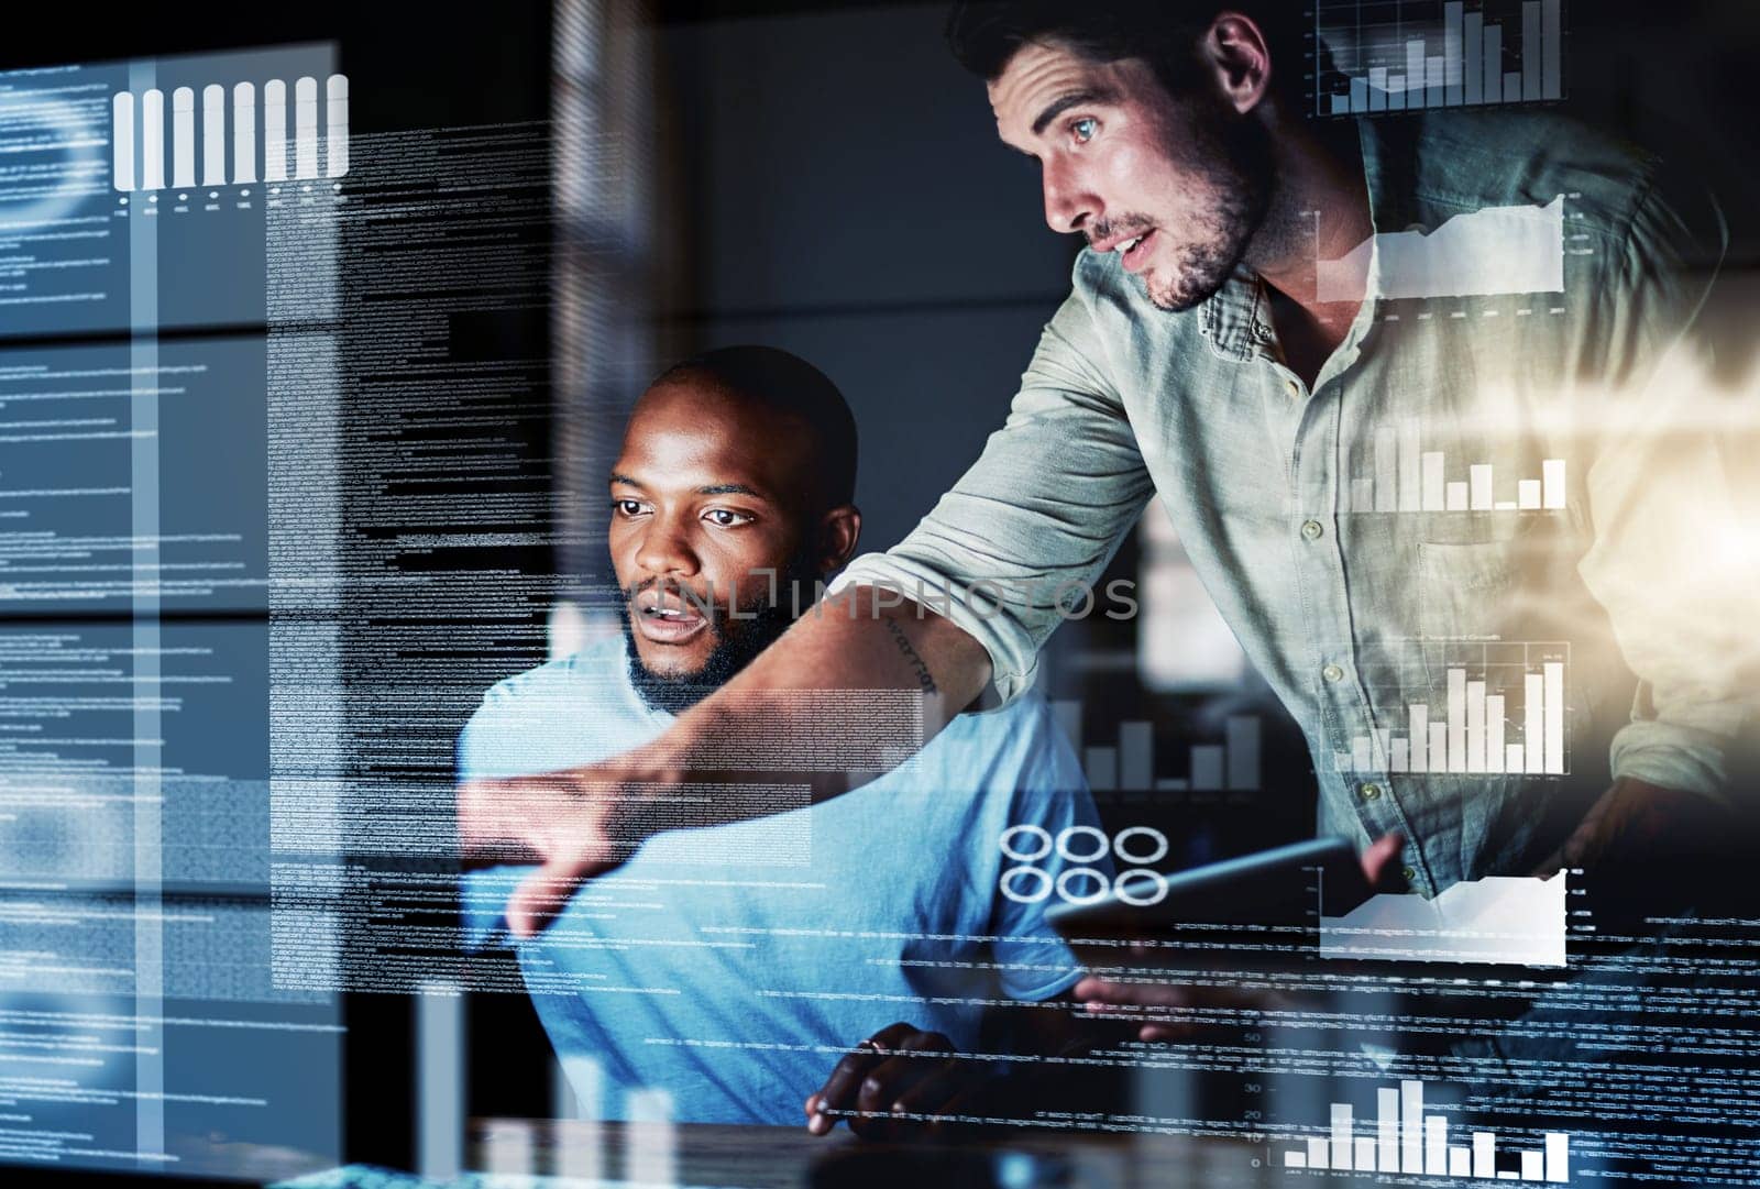
[(1426, 901), (1380, 894), (1320, 916), (1320, 957), (1484, 966), (1566, 964), (1565, 872), (1463, 879)]

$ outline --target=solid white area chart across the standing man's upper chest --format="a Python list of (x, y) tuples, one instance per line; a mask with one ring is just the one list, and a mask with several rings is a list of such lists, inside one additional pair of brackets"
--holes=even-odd
[(1320, 301), (1498, 297), (1565, 292), (1565, 195), (1545, 206), (1489, 206), (1433, 230), (1371, 236), (1316, 260)]

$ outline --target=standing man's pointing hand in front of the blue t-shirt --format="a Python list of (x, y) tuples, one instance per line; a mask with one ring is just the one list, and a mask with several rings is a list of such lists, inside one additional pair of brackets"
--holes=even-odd
[[(621, 772), (621, 779), (620, 779)], [(458, 790), (458, 835), (466, 865), (535, 862), (507, 901), (507, 927), (530, 937), (574, 890), (627, 860), (646, 835), (628, 772), (568, 769)]]

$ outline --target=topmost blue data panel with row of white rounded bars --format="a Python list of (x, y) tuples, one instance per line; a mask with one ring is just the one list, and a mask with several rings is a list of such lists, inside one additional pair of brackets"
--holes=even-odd
[(266, 318), (264, 211), (347, 172), (331, 46), (0, 72), (0, 336)]

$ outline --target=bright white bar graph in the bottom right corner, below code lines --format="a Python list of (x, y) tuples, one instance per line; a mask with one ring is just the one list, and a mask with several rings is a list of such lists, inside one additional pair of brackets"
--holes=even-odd
[(1320, 1168), (1339, 1173), (1406, 1173), (1470, 1180), (1531, 1180), (1570, 1184), (1570, 1134), (1545, 1131), (1540, 1149), (1498, 1152), (1496, 1131), (1471, 1131), (1454, 1143), (1447, 1115), (1424, 1112), (1424, 1083), (1401, 1082), (1375, 1094), (1375, 1122), (1357, 1134), (1352, 1103), (1332, 1103), (1325, 1134), (1283, 1150), (1283, 1168)]

